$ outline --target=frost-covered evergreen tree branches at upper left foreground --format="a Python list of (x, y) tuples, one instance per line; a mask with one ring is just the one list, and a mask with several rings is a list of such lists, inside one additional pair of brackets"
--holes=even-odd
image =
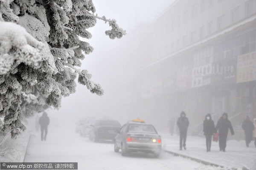
[[(99, 84), (87, 70), (79, 70), (93, 47), (88, 28), (97, 19), (108, 22), (111, 39), (125, 31), (115, 20), (99, 17), (92, 0), (0, 0), (0, 117), (3, 132), (16, 138), (26, 127), (22, 119), (47, 107), (60, 107), (62, 96), (78, 82), (97, 95)], [(82, 53), (84, 52), (84, 54)]]

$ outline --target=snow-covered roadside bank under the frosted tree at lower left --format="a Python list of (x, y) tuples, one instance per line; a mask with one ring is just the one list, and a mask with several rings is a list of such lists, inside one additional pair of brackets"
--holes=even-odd
[(17, 139), (13, 140), (10, 137), (6, 139), (5, 145), (8, 147), (8, 152), (5, 155), (0, 155), (0, 162), (23, 162), (26, 147), (29, 142), (29, 132), (21, 133)]

